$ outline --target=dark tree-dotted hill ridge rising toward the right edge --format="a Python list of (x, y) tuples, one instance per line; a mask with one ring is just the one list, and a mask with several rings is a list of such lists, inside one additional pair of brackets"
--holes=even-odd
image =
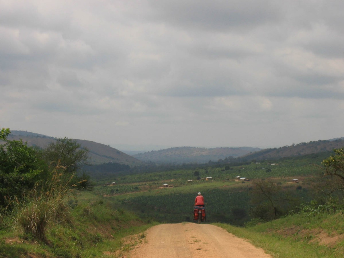
[(291, 146), (284, 146), (280, 148), (264, 149), (255, 153), (249, 153), (241, 160), (277, 160), (286, 157), (295, 157), (301, 155), (308, 155), (320, 152), (330, 152), (334, 149), (344, 147), (343, 138), (336, 138), (332, 140), (319, 140), (310, 142), (301, 142), (292, 144)]

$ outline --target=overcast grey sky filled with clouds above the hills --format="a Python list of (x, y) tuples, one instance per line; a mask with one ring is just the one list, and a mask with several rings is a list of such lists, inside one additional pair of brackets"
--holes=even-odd
[(0, 0), (0, 37), (1, 128), (120, 150), (344, 136), (343, 0)]

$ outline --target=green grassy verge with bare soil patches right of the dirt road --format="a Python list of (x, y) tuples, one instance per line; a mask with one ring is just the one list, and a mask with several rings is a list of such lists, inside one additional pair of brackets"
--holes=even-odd
[[(343, 234), (341, 213), (312, 218), (311, 221), (305, 216), (292, 215), (248, 228), (220, 223), (214, 225), (247, 239), (273, 257), (344, 257), (344, 240), (334, 241), (334, 236)], [(319, 244), (321, 240), (327, 245)]]

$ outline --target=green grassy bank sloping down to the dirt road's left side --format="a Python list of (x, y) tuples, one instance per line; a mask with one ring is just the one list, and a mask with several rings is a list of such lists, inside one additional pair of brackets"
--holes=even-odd
[[(68, 223), (49, 223), (46, 241), (23, 234), (20, 228), (4, 222), (0, 232), (0, 257), (120, 257), (122, 238), (142, 234), (157, 223), (144, 222), (137, 215), (120, 209), (112, 200), (92, 192), (80, 192), (71, 199), (71, 220)], [(127, 245), (128, 246), (131, 245)]]

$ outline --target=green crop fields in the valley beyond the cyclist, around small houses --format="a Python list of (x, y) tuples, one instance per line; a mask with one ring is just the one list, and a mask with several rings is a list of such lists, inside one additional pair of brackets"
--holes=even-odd
[[(206, 202), (207, 222), (243, 226), (251, 220), (252, 182), (273, 179), (284, 191), (288, 191), (294, 200), (298, 200), (294, 201), (295, 205), (309, 202), (313, 193), (309, 190), (307, 178), (320, 173), (320, 162), (320, 159), (285, 159), (276, 163), (254, 162), (121, 175), (115, 178), (115, 185), (97, 186), (94, 191), (107, 196), (119, 207), (137, 213), (142, 219), (161, 223), (192, 221), (194, 198), (197, 192), (202, 192)], [(206, 181), (205, 178), (209, 176), (212, 180)], [(246, 177), (250, 181), (235, 181), (236, 176)], [(291, 184), (294, 177), (302, 178), (302, 183)], [(173, 187), (163, 188), (163, 184)], [(289, 208), (284, 204), (280, 206), (283, 210)]]

